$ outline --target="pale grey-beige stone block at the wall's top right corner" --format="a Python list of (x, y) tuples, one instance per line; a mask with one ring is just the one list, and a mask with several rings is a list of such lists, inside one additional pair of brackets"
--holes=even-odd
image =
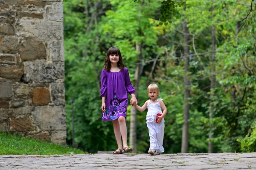
[(63, 5), (62, 3), (52, 3), (50, 6), (46, 6), (46, 12), (44, 18), (52, 21), (63, 22)]

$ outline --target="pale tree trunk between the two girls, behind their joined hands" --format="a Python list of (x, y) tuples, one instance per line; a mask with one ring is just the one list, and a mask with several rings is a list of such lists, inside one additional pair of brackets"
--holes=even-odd
[[(140, 83), (140, 76), (143, 72), (143, 65), (141, 63), (141, 59), (142, 59), (142, 52), (141, 52), (141, 44), (136, 43), (136, 51), (140, 52), (139, 56), (138, 56), (138, 61), (136, 64), (136, 70), (134, 73), (134, 88), (135, 88), (135, 96), (138, 99), (138, 94), (139, 94), (139, 83)], [(137, 152), (137, 143), (136, 143), (136, 131), (137, 131), (137, 109), (132, 106), (131, 107), (131, 121), (130, 121), (130, 140), (129, 140), (129, 144), (130, 147), (133, 148), (133, 153)]]

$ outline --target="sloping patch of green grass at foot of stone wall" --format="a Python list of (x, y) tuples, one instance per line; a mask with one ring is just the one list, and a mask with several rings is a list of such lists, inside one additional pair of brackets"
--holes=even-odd
[(87, 154), (82, 150), (0, 132), (0, 155)]

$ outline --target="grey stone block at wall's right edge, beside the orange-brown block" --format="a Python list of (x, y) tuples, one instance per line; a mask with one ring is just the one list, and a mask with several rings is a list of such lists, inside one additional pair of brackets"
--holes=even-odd
[(52, 101), (56, 106), (65, 106), (65, 87), (64, 83), (51, 83)]

